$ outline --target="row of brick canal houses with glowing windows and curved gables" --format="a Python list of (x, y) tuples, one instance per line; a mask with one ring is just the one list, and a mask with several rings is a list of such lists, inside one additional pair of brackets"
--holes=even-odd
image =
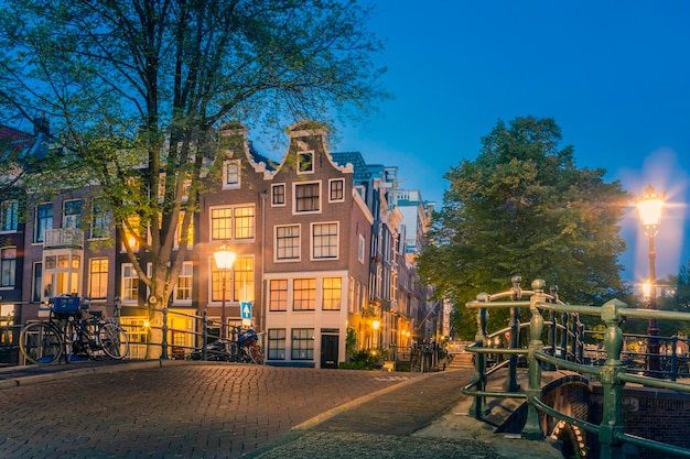
[[(235, 326), (247, 307), (268, 364), (337, 368), (354, 350), (396, 352), (430, 339), (421, 326), (430, 291), (416, 274), (414, 254), (432, 208), (419, 192), (414, 205), (400, 198), (396, 167), (331, 153), (325, 133), (314, 122), (293, 124), (274, 164), (251, 147), (242, 124), (219, 128), (222, 174), (208, 177), (198, 197), (168, 305), (173, 354), (198, 346), (198, 315)], [(40, 318), (51, 296), (86, 296), (107, 314), (121, 306), (131, 357), (143, 357), (149, 292), (98, 187), (22, 199), (0, 198), (7, 321)], [(230, 270), (216, 266), (220, 247), (236, 254)], [(134, 248), (134, 255), (148, 265), (145, 251)]]

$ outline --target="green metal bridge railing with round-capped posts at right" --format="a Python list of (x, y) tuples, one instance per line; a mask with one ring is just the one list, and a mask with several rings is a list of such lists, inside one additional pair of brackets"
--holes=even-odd
[[(690, 458), (690, 449), (665, 444), (650, 438), (643, 438), (638, 435), (632, 435), (626, 431), (625, 419), (623, 416), (623, 387), (626, 383), (635, 383), (645, 387), (666, 389), (678, 391), (681, 393), (690, 393), (690, 384), (678, 381), (667, 381), (660, 379), (660, 374), (642, 372), (629, 372), (624, 364), (622, 357), (624, 335), (621, 324), (626, 318), (649, 319), (655, 318), (678, 320), (690, 323), (690, 314), (661, 312), (651, 309), (634, 309), (627, 308), (623, 302), (612, 299), (601, 307), (596, 306), (578, 306), (568, 305), (558, 299), (558, 295), (547, 294), (545, 292), (545, 282), (537, 280), (532, 282), (532, 291), (521, 291), (519, 288), (519, 277), (514, 278), (514, 287), (504, 293), (488, 295), (479, 294), (477, 299), (467, 303), (467, 308), (477, 310), (477, 334), (474, 345), (467, 347), (467, 351), (475, 353), (475, 374), (471, 383), (464, 389), (463, 393), (473, 396), (473, 404), (470, 408), (470, 415), (482, 418), (488, 411), (486, 409), (486, 397), (509, 397), (526, 400), (528, 404), (527, 420), (522, 428), (521, 436), (529, 439), (543, 439), (539, 414), (545, 413), (553, 418), (570, 423), (580, 429), (589, 431), (599, 437), (601, 445), (601, 458), (623, 458), (623, 446), (625, 444), (637, 447), (657, 450), (659, 452), (676, 455), (677, 457)], [(529, 299), (521, 299), (529, 296)], [(508, 300), (506, 300), (508, 298)], [(519, 328), (520, 324), (516, 323), (519, 317), (516, 312), (520, 307), (529, 307), (529, 341), (527, 347), (520, 347)], [(486, 330), (487, 314), (490, 309), (509, 308), (511, 309), (511, 334), (510, 347), (508, 349), (496, 349), (489, 346), (490, 335)], [(549, 314), (549, 320), (543, 314)], [(552, 326), (552, 318), (558, 314), (568, 314), (578, 317), (574, 321), (579, 324), (579, 317), (596, 316), (601, 317), (606, 329), (603, 331), (603, 351), (605, 353), (604, 361), (601, 365), (586, 364), (583, 360), (582, 337), (584, 331), (580, 329), (580, 325), (571, 326), (572, 339), (574, 348), (564, 346), (554, 346), (556, 340), (551, 340), (551, 331), (547, 332), (547, 326)], [(562, 330), (569, 327), (561, 324)], [(549, 336), (549, 346), (545, 346), (543, 337)], [(572, 352), (567, 351), (571, 349)], [(488, 375), (498, 367), (487, 365), (487, 356), (502, 353), (508, 357), (508, 374), (504, 382), (503, 391), (487, 391), (486, 383)], [(517, 384), (516, 370), (518, 358), (526, 359), (528, 367), (528, 387), (520, 391)], [(515, 364), (514, 364), (515, 363)], [(541, 373), (543, 369), (564, 369), (585, 374), (590, 379), (597, 380), (603, 386), (603, 413), (602, 422), (599, 425), (587, 420), (579, 419), (565, 413), (559, 412), (547, 405), (541, 398)], [(676, 373), (678, 375), (678, 373)]]

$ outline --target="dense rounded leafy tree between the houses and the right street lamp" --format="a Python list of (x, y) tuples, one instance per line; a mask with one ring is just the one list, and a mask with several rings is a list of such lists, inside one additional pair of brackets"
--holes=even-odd
[[(460, 308), (464, 337), (476, 331), (464, 304), (481, 292), (507, 291), (511, 275), (558, 285), (573, 304), (625, 294), (618, 221), (628, 196), (618, 182), (604, 181), (604, 170), (578, 168), (573, 147), (560, 141), (550, 118), (499, 121), (475, 161), (445, 174), (450, 189), (419, 266), (436, 294)], [(500, 314), (489, 320), (507, 325)]]

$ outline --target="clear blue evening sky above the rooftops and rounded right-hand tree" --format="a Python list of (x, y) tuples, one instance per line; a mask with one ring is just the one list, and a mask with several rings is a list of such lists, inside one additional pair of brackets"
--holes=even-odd
[[(363, 0), (368, 1), (368, 0)], [(690, 260), (690, 1), (380, 0), (371, 30), (396, 99), (341, 132), (334, 151), (399, 167), (442, 205), (451, 166), (474, 160), (502, 119), (551, 117), (578, 167), (642, 195), (666, 193), (657, 276)], [(624, 277), (648, 275), (630, 203)]]

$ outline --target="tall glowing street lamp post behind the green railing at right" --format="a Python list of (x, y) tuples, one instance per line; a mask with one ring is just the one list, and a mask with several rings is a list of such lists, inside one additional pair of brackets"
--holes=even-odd
[[(657, 308), (656, 300), (656, 282), (657, 282), (657, 273), (656, 273), (656, 251), (654, 248), (654, 239), (659, 232), (659, 223), (661, 222), (661, 209), (664, 208), (664, 196), (659, 196), (655, 193), (651, 186), (648, 186), (645, 190), (645, 194), (640, 199), (637, 199), (637, 211), (639, 212), (639, 218), (642, 219), (643, 227), (645, 228), (645, 234), (647, 234), (647, 239), (649, 240), (649, 278), (647, 280), (648, 285), (645, 287), (645, 296), (648, 295), (649, 298), (649, 309)], [(649, 353), (649, 359), (647, 360), (647, 370), (650, 375), (658, 376), (659, 375), (659, 340), (657, 336), (659, 335), (659, 327), (657, 325), (657, 319), (650, 317), (647, 320), (647, 352)]]

